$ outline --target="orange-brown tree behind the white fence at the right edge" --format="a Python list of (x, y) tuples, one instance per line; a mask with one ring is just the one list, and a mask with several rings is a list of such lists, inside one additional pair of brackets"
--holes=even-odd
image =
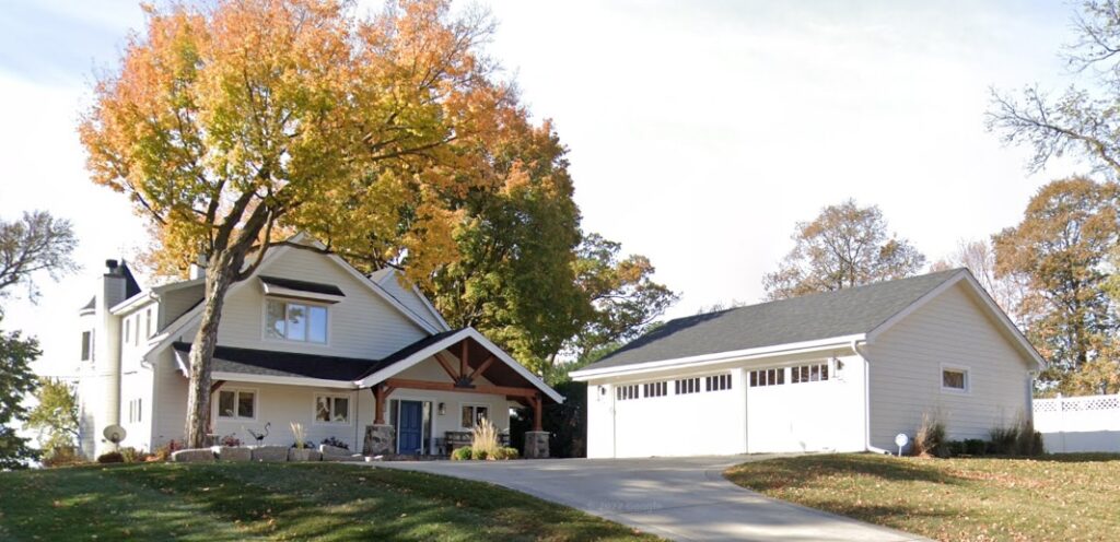
[[(1071, 375), (1103, 359), (1120, 325), (1105, 295), (1104, 263), (1120, 232), (1120, 185), (1056, 180), (1030, 199), (1023, 222), (995, 237), (997, 273), (1025, 277), (1028, 335), (1049, 361), (1044, 379), (1084, 392)], [(1091, 383), (1096, 393), (1100, 382)]]

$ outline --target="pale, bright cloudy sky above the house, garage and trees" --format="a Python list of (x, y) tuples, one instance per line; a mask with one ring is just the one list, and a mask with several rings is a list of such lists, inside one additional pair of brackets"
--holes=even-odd
[[(1073, 81), (1071, 3), (479, 3), (498, 22), (489, 54), (569, 149), (584, 228), (652, 260), (681, 293), (668, 317), (758, 300), (795, 223), (823, 206), (878, 205), (933, 261), (1080, 170), (1030, 174), (1028, 149), (984, 129), (991, 88)], [(94, 75), (142, 24), (133, 0), (0, 6), (0, 217), (71, 219), (84, 265), (6, 308), (6, 329), (40, 338), (44, 374), (76, 365), (77, 308), (104, 260), (147, 243), (124, 197), (90, 181), (75, 131)]]

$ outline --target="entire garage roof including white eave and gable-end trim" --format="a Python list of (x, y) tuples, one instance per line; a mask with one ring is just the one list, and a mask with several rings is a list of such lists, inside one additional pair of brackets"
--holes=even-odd
[[(684, 363), (719, 354), (762, 353), (786, 345), (816, 345), (869, 339), (964, 281), (981, 306), (1000, 324), (1026, 357), (1042, 356), (996, 306), (967, 269), (953, 269), (843, 290), (783, 299), (719, 312), (670, 320), (572, 376), (637, 370), (668, 362)], [(589, 374), (590, 373), (590, 374)]]

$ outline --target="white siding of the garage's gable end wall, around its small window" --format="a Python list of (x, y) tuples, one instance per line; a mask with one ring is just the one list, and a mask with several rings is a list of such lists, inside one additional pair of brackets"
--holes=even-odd
[[(1029, 373), (1023, 356), (959, 283), (930, 300), (867, 346), (871, 443), (894, 449), (924, 412), (939, 413), (950, 439), (987, 438), (993, 427), (1029, 415)], [(942, 366), (969, 368), (967, 393), (942, 390)]]

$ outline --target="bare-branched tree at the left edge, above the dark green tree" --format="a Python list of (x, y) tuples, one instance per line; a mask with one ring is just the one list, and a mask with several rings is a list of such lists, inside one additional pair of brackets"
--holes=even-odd
[(10, 287), (26, 286), (28, 298), (38, 297), (32, 277), (46, 272), (57, 280), (73, 272), (77, 264), (71, 253), (77, 237), (69, 221), (55, 218), (46, 211), (24, 213), (12, 222), (0, 221), (0, 299), (9, 296)]

